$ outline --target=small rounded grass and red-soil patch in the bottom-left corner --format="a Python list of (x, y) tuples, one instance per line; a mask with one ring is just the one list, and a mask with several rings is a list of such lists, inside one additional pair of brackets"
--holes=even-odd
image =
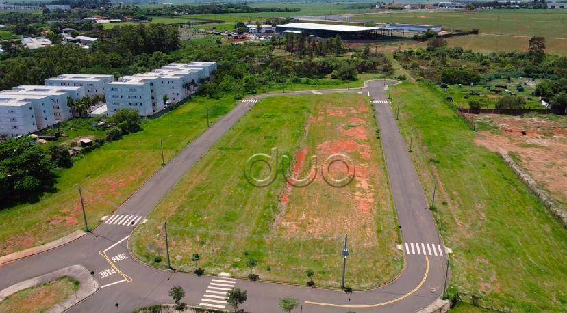
[(63, 277), (14, 293), (0, 302), (0, 312), (46, 312), (75, 292), (75, 280)]

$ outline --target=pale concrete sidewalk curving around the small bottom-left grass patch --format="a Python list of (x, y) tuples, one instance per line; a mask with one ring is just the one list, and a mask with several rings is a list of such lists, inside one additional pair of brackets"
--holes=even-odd
[(71, 265), (70, 267), (64, 267), (63, 269), (58, 269), (51, 273), (33, 277), (29, 280), (24, 280), (23, 282), (18, 282), (1, 290), (0, 301), (3, 301), (6, 297), (9, 297), (18, 291), (53, 282), (53, 280), (57, 280), (58, 278), (65, 276), (73, 277), (73, 279), (78, 280), (81, 283), (79, 285), (80, 288), (75, 294), (67, 297), (67, 299), (61, 303), (56, 304), (53, 308), (49, 309), (48, 312), (64, 312), (68, 310), (68, 308), (71, 308), (73, 305), (83, 301), (99, 290), (99, 283), (90, 275), (89, 271), (85, 267), (82, 265)]

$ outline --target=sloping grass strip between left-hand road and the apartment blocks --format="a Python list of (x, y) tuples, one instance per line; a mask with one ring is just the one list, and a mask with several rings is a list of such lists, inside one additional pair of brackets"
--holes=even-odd
[(232, 107), (231, 97), (196, 98), (154, 120), (144, 120), (143, 130), (105, 144), (60, 173), (57, 192), (46, 193), (34, 204), (0, 210), (0, 255), (41, 245), (83, 228), (77, 184), (83, 188), (90, 228), (112, 213), (161, 167), (207, 128), (207, 107), (212, 122)]

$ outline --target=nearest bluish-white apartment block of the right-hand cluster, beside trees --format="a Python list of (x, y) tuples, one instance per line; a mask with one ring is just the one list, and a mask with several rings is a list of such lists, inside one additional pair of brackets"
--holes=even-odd
[(155, 77), (124, 76), (109, 83), (106, 88), (108, 115), (112, 116), (120, 109), (136, 110), (141, 116), (157, 112), (155, 103), (158, 99), (152, 92), (156, 81)]

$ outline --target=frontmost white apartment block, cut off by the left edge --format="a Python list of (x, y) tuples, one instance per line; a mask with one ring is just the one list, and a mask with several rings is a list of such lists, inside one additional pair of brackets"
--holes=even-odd
[(0, 137), (13, 138), (37, 130), (31, 102), (0, 96)]

